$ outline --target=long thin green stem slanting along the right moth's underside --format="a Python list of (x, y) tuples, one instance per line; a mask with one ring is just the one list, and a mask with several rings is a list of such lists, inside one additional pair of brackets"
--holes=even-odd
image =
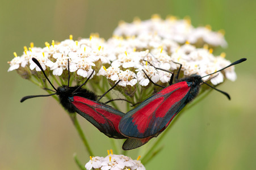
[(208, 90), (207, 92), (203, 92), (201, 96), (199, 96), (198, 98), (196, 98), (196, 100), (189, 104), (186, 108), (182, 109), (181, 112), (179, 112), (179, 114), (177, 114), (177, 116), (174, 117), (174, 119), (171, 121), (171, 126), (169, 125), (169, 127), (163, 131), (163, 133), (160, 135), (160, 137), (158, 137), (158, 140), (154, 143), (154, 145), (148, 150), (148, 152), (146, 152), (146, 154), (144, 154), (144, 156), (142, 156), (141, 162), (145, 165), (146, 163), (149, 162), (149, 160), (151, 158), (151, 153), (154, 151), (154, 148), (156, 148), (158, 146), (158, 144), (162, 141), (162, 139), (165, 137), (165, 135), (167, 134), (167, 132), (171, 129), (171, 127), (174, 126), (175, 122), (178, 120), (179, 116), (186, 111), (187, 109), (190, 109), (191, 107), (193, 107), (195, 104), (198, 104), (201, 100), (203, 100), (209, 93), (211, 92), (211, 90)]

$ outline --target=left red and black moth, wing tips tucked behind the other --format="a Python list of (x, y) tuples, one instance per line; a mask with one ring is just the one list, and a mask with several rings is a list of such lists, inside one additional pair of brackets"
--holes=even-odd
[[(40, 63), (37, 61), (36, 58), (32, 58), (32, 61), (36, 63), (37, 66), (41, 69), (41, 71), (44, 73), (43, 68), (41, 67)], [(97, 100), (98, 96), (96, 96), (93, 92), (82, 88), (87, 81), (91, 78), (91, 75), (85, 83), (81, 84), (81, 86), (74, 86), (69, 87), (69, 79), (68, 79), (68, 86), (60, 86), (58, 88), (55, 88), (53, 84), (50, 82), (50, 80), (45, 75), (45, 78), (47, 78), (48, 82), (51, 84), (53, 89), (53, 94), (49, 95), (33, 95), (33, 96), (25, 96), (23, 97), (20, 102), (23, 102), (24, 100), (31, 99), (33, 97), (44, 97), (44, 96), (52, 96), (57, 95), (60, 99), (61, 105), (68, 110), (69, 113), (77, 112), (82, 117), (86, 118), (91, 124), (93, 124), (99, 131), (104, 133), (110, 138), (117, 138), (117, 139), (124, 139), (127, 137), (124, 137), (122, 134), (120, 134), (120, 131), (118, 129), (119, 122), (121, 118), (124, 116), (124, 113), (117, 111), (116, 109), (103, 104), (99, 103), (99, 100), (107, 94), (110, 90), (112, 90), (119, 82), (117, 82), (113, 87), (110, 88), (107, 92), (105, 92), (100, 98)]]

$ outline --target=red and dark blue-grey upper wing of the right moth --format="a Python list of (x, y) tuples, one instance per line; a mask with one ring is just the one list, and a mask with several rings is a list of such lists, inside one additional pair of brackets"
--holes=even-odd
[(159, 133), (184, 107), (190, 87), (175, 83), (143, 101), (121, 118), (121, 134), (131, 138), (148, 138)]

